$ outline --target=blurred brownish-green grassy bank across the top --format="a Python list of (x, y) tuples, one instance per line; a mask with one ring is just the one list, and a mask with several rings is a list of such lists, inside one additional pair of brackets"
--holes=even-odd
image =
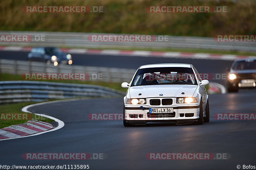
[[(107, 7), (105, 13), (25, 13), (23, 6)], [(148, 13), (147, 6), (228, 6), (220, 13)], [(255, 0), (8, 0), (0, 1), (0, 30), (134, 33), (213, 37), (255, 34)]]

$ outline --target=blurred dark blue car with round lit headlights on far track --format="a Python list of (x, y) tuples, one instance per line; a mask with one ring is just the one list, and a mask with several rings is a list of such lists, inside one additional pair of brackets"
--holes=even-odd
[(70, 54), (63, 53), (57, 47), (34, 47), (28, 53), (28, 61), (41, 61), (45, 63), (53, 63), (55, 66), (60, 64), (69, 64), (73, 63), (72, 57)]

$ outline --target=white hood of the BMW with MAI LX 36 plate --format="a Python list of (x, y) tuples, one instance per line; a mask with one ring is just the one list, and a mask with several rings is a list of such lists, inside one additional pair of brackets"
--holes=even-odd
[[(192, 97), (196, 88), (197, 85), (142, 85), (131, 87), (129, 94), (131, 98)], [(185, 94), (181, 94), (182, 92)]]

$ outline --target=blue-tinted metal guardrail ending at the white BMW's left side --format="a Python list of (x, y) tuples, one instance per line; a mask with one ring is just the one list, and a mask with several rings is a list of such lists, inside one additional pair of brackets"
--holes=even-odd
[(124, 94), (124, 92), (98, 85), (0, 81), (0, 104), (76, 97), (117, 97)]

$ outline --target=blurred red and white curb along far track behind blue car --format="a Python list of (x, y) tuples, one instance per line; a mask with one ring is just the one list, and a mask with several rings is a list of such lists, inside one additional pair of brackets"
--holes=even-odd
[[(30, 51), (32, 47), (0, 46), (3, 51)], [(208, 60), (236, 60), (240, 58), (254, 58), (255, 55), (222, 55), (209, 53), (185, 53), (185, 52), (161, 52), (140, 50), (111, 50), (111, 49), (86, 49), (86, 48), (61, 48), (63, 52), (70, 54), (93, 54), (93, 55), (122, 55), (164, 58), (192, 58)]]

